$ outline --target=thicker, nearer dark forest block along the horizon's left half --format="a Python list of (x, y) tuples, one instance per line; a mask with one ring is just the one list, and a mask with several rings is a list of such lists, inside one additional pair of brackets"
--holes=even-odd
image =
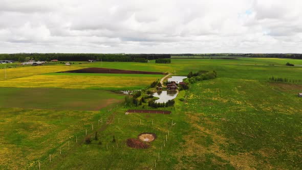
[(134, 61), (147, 62), (153, 59), (171, 58), (170, 54), (68, 54), (68, 53), (17, 53), (0, 54), (0, 60), (15, 60), (24, 62), (28, 60), (50, 61)]

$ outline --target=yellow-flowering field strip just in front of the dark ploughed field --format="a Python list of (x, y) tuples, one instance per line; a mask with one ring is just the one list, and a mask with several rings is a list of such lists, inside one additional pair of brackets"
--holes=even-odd
[(0, 87), (132, 90), (145, 87), (162, 76), (34, 75), (0, 81)]

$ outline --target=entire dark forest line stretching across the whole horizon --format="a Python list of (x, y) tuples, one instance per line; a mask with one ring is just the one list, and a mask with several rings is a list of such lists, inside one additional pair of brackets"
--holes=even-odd
[(24, 62), (28, 60), (50, 61), (134, 61), (147, 62), (148, 60), (171, 58), (171, 56), (195, 57), (264, 57), (264, 58), (293, 58), (302, 59), (302, 54), (243, 54), (243, 53), (209, 53), (209, 54), (97, 54), (97, 53), (16, 53), (0, 54), (0, 60), (14, 60)]

